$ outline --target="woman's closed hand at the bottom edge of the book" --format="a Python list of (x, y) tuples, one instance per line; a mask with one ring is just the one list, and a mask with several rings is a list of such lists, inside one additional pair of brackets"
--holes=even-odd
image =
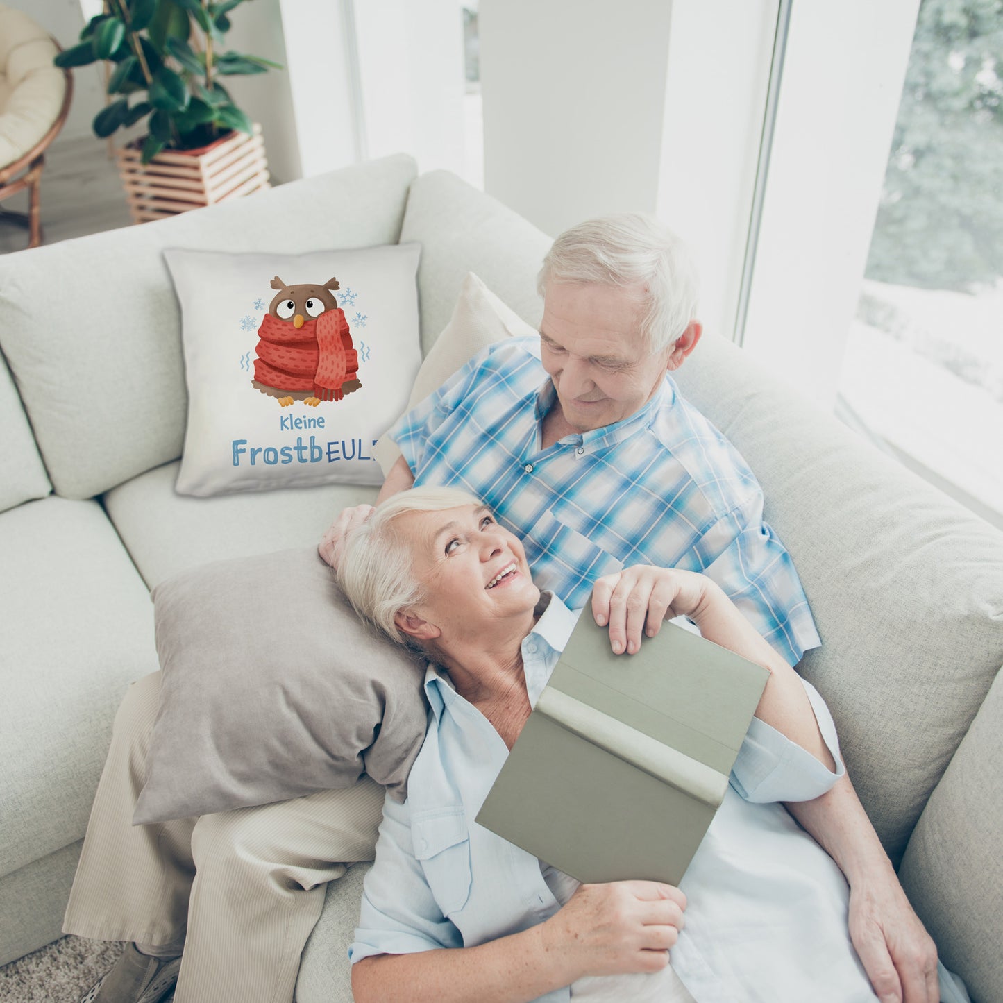
[(541, 929), (544, 949), (574, 981), (583, 975), (658, 972), (682, 930), (686, 896), (672, 885), (582, 885)]

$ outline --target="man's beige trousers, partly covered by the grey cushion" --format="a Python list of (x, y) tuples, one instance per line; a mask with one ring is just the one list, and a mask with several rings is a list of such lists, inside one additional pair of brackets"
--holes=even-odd
[(154, 672), (118, 709), (63, 931), (184, 941), (176, 1003), (290, 1003), (325, 884), (373, 859), (383, 788), (132, 825), (159, 690)]

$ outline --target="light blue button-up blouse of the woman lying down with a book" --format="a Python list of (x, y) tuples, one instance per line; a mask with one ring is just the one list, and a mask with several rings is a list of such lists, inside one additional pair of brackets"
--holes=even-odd
[[(536, 628), (524, 640), (531, 703), (547, 684), (578, 615), (551, 596)], [(848, 1003), (875, 998), (850, 944), (849, 893), (842, 874), (782, 806), (773, 803), (817, 797), (844, 773), (828, 710), (810, 685), (804, 683), (804, 688), (838, 771), (830, 772), (774, 728), (753, 719), (725, 803), (680, 885), (689, 905), (686, 928), (672, 951), (672, 966), (700, 1003), (758, 998), (770, 1003), (806, 998)], [(428, 731), (411, 770), (407, 800), (398, 804), (388, 797), (384, 804), (376, 863), (366, 876), (359, 926), (349, 948), (353, 964), (371, 955), (482, 944), (542, 923), (560, 908), (538, 859), (473, 820), (509, 754), (505, 742), (434, 668), (426, 674), (425, 692), (430, 705)], [(763, 857), (757, 851), (745, 861), (748, 847), (765, 847), (769, 852)], [(792, 847), (796, 853), (790, 852)], [(796, 873), (788, 875), (785, 869)], [(809, 892), (820, 886), (821, 892), (805, 895), (802, 886)], [(742, 894), (751, 899), (744, 907), (739, 901)], [(756, 901), (764, 897), (772, 901)], [(715, 903), (726, 905), (723, 929)], [(819, 909), (832, 915), (819, 917)], [(733, 984), (736, 965), (729, 959), (748, 951), (732, 942), (744, 940), (752, 955), (759, 957), (764, 949), (755, 936), (758, 930), (766, 956), (755, 968), (775, 970), (778, 957), (798, 949), (781, 938), (806, 930), (801, 937), (817, 941), (819, 924), (825, 928), (822, 940), (826, 941), (819, 963), (830, 965), (830, 955), (841, 956), (842, 969), (834, 965), (829, 973), (834, 995), (819, 997), (815, 985), (812, 993), (798, 996), (796, 980), (790, 982), (789, 993), (769, 995), (773, 990), (768, 979), (762, 997), (747, 995), (743, 984), (750, 973), (741, 971), (739, 983)], [(775, 950), (768, 950), (770, 943)], [(785, 978), (784, 984), (788, 981)], [(541, 997), (569, 998), (567, 988)]]

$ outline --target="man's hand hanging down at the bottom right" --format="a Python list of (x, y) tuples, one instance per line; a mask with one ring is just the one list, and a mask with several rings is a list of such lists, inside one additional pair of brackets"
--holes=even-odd
[(937, 947), (894, 874), (850, 891), (850, 937), (882, 1003), (939, 1003)]

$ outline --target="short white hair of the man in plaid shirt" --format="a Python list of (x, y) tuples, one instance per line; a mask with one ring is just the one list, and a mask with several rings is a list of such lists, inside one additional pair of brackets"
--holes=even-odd
[(586, 220), (554, 242), (537, 278), (551, 283), (640, 287), (641, 335), (651, 352), (673, 344), (696, 317), (697, 276), (686, 245), (640, 213)]

